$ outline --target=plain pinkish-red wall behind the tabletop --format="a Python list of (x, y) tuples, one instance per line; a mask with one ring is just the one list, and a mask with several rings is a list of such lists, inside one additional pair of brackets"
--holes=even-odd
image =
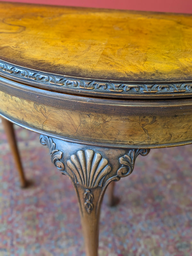
[(9, 2), (192, 13), (192, 0), (10, 0)]

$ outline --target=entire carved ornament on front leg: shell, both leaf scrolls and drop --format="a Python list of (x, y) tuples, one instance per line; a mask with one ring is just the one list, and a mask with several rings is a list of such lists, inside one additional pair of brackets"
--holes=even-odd
[[(63, 152), (56, 149), (56, 145), (51, 137), (40, 135), (40, 143), (47, 145), (51, 156), (52, 163), (62, 172), (71, 177), (65, 170), (62, 162)], [(119, 158), (120, 167), (115, 173), (111, 173), (109, 178), (103, 184), (105, 177), (111, 172), (111, 166), (108, 160), (100, 153), (96, 153), (92, 149), (77, 150), (76, 154), (72, 154), (66, 161), (66, 164), (72, 172), (71, 181), (84, 187), (84, 207), (88, 213), (91, 213), (93, 205), (92, 189), (104, 188), (110, 181), (119, 180), (122, 177), (130, 175), (134, 168), (135, 159), (139, 154), (145, 156), (150, 149), (128, 149), (124, 156)]]

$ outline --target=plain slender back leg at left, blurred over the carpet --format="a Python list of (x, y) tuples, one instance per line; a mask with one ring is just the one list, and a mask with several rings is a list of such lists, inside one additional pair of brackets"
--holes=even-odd
[(4, 118), (2, 118), (2, 124), (4, 126), (4, 131), (6, 133), (7, 140), (8, 140), (10, 149), (12, 151), (12, 155), (14, 157), (16, 169), (18, 170), (18, 173), (19, 173), (20, 186), (21, 186), (21, 188), (25, 188), (28, 183), (25, 178), (25, 174), (23, 172), (20, 155), (19, 155), (19, 151), (18, 151), (18, 147), (17, 147), (17, 142), (16, 142), (16, 138), (15, 138), (15, 133), (14, 133), (14, 129), (13, 129), (13, 124), (12, 124), (12, 122), (10, 122)]

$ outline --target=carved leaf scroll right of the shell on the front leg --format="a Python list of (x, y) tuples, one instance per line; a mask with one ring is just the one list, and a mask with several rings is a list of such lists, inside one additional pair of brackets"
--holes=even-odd
[(133, 171), (135, 159), (140, 155), (147, 155), (150, 149), (130, 149), (127, 154), (119, 158), (122, 166), (117, 170), (117, 176), (122, 178), (130, 175)]

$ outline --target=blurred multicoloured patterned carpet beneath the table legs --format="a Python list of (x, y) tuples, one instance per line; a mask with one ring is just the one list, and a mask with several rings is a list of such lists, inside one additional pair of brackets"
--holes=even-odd
[[(75, 192), (39, 135), (15, 127), (32, 185), (20, 189), (0, 123), (0, 256), (83, 256)], [(100, 256), (192, 256), (192, 145), (153, 149), (101, 208)]]

